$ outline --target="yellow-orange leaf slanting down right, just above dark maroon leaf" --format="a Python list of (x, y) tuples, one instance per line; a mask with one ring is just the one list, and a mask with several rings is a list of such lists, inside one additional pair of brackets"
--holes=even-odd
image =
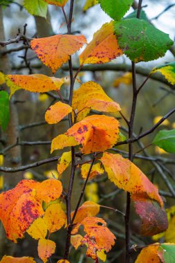
[(109, 179), (118, 188), (122, 188), (131, 194), (146, 194), (147, 197), (158, 201), (163, 207), (163, 200), (158, 194), (158, 189), (129, 159), (123, 158), (120, 154), (104, 152), (101, 161)]

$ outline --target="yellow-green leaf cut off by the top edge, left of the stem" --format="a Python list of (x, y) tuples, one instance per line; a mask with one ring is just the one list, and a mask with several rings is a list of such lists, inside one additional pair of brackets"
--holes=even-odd
[(30, 15), (45, 17), (47, 15), (47, 3), (44, 0), (24, 0), (24, 8)]

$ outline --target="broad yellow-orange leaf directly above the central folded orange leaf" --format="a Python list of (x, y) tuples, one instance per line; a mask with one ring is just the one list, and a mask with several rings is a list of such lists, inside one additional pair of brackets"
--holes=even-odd
[(73, 92), (72, 107), (77, 111), (77, 121), (86, 117), (91, 109), (113, 113), (120, 111), (120, 105), (111, 100), (102, 87), (93, 81), (85, 82)]

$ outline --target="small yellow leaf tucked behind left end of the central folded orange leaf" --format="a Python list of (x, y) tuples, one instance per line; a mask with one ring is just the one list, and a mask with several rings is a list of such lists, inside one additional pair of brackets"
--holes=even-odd
[(67, 136), (66, 134), (60, 134), (52, 140), (50, 152), (52, 153), (55, 149), (63, 149), (68, 146), (75, 146), (79, 143), (73, 136)]

